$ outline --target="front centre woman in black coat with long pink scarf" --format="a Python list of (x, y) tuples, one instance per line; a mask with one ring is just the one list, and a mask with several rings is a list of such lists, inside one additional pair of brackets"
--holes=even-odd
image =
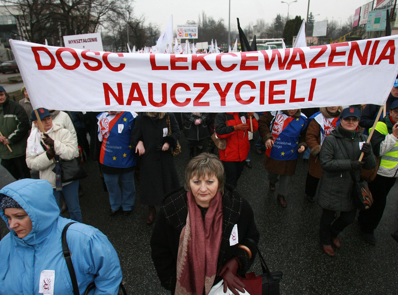
[(201, 153), (185, 170), (185, 187), (163, 199), (152, 259), (172, 294), (208, 294), (221, 279), (224, 292), (242, 292), (237, 273), (253, 263), (259, 232), (249, 203), (224, 181), (220, 159)]

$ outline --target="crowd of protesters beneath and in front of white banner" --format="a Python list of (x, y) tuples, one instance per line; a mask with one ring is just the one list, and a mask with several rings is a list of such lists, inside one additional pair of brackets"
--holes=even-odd
[[(59, 216), (65, 210), (63, 199), (70, 218), (78, 222), (68, 231), (70, 247), (93, 254), (72, 256), (75, 265), (83, 265), (76, 274), (79, 290), (94, 282), (99, 290), (95, 294), (117, 293), (122, 275), (116, 251), (101, 232), (82, 223), (79, 195), (83, 188), (78, 179), (63, 181), (62, 161), (98, 161), (110, 216), (131, 214), (135, 181), (139, 181), (139, 201), (148, 206), (145, 222), (155, 223), (152, 259), (162, 286), (173, 294), (208, 294), (221, 280), (232, 293), (242, 292), (238, 274), (252, 264), (259, 232), (251, 206), (237, 188), (245, 165), (251, 168), (250, 141), (256, 131), (256, 150), (265, 150), (269, 190), (275, 192), (281, 210), (288, 206), (299, 156), (308, 153), (303, 195), (309, 202), (317, 200), (322, 209), (319, 240), (329, 256), (342, 246), (339, 233), (357, 216), (353, 184), (361, 171), (377, 171), (368, 183), (373, 205), (358, 216), (364, 240), (373, 245), (398, 176), (398, 76), (387, 100), (387, 113), (379, 120), (380, 106), (371, 104), (218, 114), (34, 110), (28, 91), (21, 92), (25, 98), (18, 103), (0, 86), (1, 165), (18, 180), (0, 191), (0, 215), (10, 229), (0, 242), (1, 261), (8, 261), (0, 272), (5, 278), (0, 280), (0, 294), (12, 288), (19, 288), (15, 293), (20, 294), (29, 293), (24, 288), (43, 288), (47, 279), (54, 280), (53, 273), (46, 273), (50, 269), (68, 273), (60, 233), (70, 220)], [(213, 133), (226, 142), (225, 148), (216, 148)], [(180, 140), (187, 141), (189, 151), (185, 152), (190, 158), (183, 187), (174, 161)], [(45, 206), (36, 203), (39, 195)], [(235, 232), (239, 235), (233, 241)], [(398, 242), (398, 230), (392, 236)], [(26, 245), (33, 245), (33, 251)], [(38, 265), (44, 247), (51, 259)], [(13, 262), (17, 255), (35, 259)], [(105, 279), (109, 276), (111, 281)], [(20, 284), (15, 284), (16, 277)], [(34, 284), (27, 287), (29, 280)], [(63, 284), (55, 275), (51, 288), (67, 288)]]

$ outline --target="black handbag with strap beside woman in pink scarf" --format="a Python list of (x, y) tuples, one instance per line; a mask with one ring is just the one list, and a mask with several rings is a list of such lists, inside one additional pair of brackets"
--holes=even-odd
[(259, 254), (260, 258), (260, 263), (261, 263), (261, 268), (263, 270), (263, 273), (255, 278), (250, 278), (249, 276), (246, 275), (246, 278), (242, 279), (242, 282), (245, 284), (246, 287), (249, 287), (248, 285), (253, 283), (257, 284), (256, 279), (259, 277), (261, 278), (262, 281), (262, 295), (279, 295), (280, 290), (279, 290), (279, 283), (280, 280), (282, 279), (283, 273), (281, 271), (274, 271), (270, 272), (268, 266), (265, 263), (265, 259), (263, 255), (261, 254), (259, 247), (257, 246), (256, 242), (252, 239), (247, 239), (250, 242), (252, 242), (254, 245), (256, 245), (257, 253)]

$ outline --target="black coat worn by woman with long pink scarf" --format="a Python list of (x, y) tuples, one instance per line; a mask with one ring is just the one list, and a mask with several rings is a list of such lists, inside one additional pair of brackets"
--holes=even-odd
[[(242, 262), (242, 267), (238, 269), (238, 273), (243, 275), (252, 265), (257, 252), (256, 246), (245, 239), (251, 238), (256, 243), (259, 241), (259, 232), (254, 222), (253, 210), (236, 189), (226, 184), (222, 195), (222, 213), (222, 237), (217, 272), (229, 259), (238, 257)], [(162, 286), (167, 290), (174, 291), (176, 288), (179, 236), (186, 224), (187, 214), (186, 191), (180, 188), (164, 197), (152, 233), (153, 263)], [(229, 246), (229, 237), (235, 224), (238, 226), (239, 243)], [(245, 250), (238, 248), (239, 244), (250, 248), (252, 251), (251, 259), (249, 259)], [(221, 277), (216, 277), (214, 284), (217, 284), (220, 280)]]

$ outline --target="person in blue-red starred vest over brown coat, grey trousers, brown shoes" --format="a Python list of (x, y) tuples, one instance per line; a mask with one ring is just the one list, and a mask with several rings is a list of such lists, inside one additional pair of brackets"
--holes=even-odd
[(296, 172), (299, 153), (307, 147), (306, 129), (307, 116), (300, 109), (266, 112), (259, 119), (259, 134), (266, 147), (264, 166), (269, 188), (275, 191), (279, 182), (277, 200), (283, 208), (287, 207), (285, 196)]

